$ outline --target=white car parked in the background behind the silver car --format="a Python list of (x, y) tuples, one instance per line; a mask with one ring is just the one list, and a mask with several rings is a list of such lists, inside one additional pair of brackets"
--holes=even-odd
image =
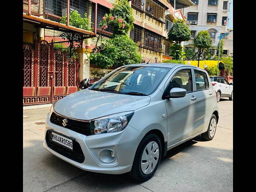
[(233, 100), (233, 84), (229, 83), (224, 77), (210, 77), (212, 86), (217, 93), (217, 102), (220, 98), (228, 97)]

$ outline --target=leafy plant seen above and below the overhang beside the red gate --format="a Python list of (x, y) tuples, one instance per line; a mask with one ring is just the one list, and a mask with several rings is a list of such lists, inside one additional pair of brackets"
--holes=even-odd
[[(61, 18), (60, 23), (66, 24), (67, 23), (67, 16), (64, 16)], [(73, 11), (70, 16), (69, 16), (69, 25), (91, 31), (91, 26), (89, 19), (87, 17), (87, 14), (84, 13), (84, 17), (82, 17), (78, 12)], [(81, 42), (81, 35), (80, 34), (74, 34), (74, 33), (69, 33), (69, 32), (62, 32), (60, 34), (60, 37), (62, 37), (64, 40), (67, 39), (70, 43), (69, 45), (69, 56), (71, 57), (75, 53), (75, 47), (79, 46)]]

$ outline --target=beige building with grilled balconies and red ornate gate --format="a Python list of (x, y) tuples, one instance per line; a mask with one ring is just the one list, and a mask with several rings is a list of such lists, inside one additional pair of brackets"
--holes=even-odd
[[(99, 33), (104, 38), (112, 35), (112, 27), (102, 30), (99, 22), (114, 2), (23, 0), (24, 105), (52, 103), (77, 91), (80, 80), (102, 73), (102, 69), (90, 65), (88, 56), (95, 46), (93, 38)], [(167, 30), (175, 17), (185, 18), (182, 12), (177, 6), (174, 10), (168, 0), (130, 0), (128, 3), (134, 15), (134, 29), (128, 35), (139, 46), (142, 62), (171, 59), (168, 50), (172, 43), (166, 40)], [(185, 6), (193, 4), (190, 0), (184, 3)], [(86, 16), (92, 31), (71, 26), (69, 19), (63, 22), (62, 17), (69, 18), (73, 12)], [(65, 34), (69, 34), (69, 39)], [(113, 68), (104, 72), (111, 70)]]

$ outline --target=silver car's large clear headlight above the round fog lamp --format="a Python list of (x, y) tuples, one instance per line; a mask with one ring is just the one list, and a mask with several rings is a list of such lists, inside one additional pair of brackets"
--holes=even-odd
[(134, 112), (123, 112), (105, 116), (90, 121), (91, 131), (94, 134), (122, 131), (126, 128)]

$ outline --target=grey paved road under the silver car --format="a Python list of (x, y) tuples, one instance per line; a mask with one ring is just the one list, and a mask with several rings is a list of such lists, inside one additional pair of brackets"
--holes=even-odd
[(24, 192), (230, 192), (233, 191), (233, 102), (218, 103), (220, 120), (210, 142), (198, 136), (168, 151), (153, 178), (144, 183), (127, 174), (86, 172), (43, 146), (49, 108), (24, 110)]

